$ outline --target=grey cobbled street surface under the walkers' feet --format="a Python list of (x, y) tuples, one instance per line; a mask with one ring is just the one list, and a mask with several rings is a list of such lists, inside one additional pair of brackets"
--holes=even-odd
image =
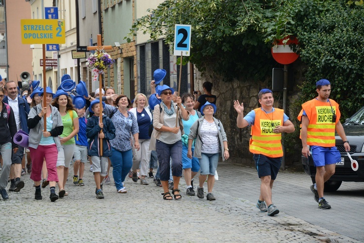
[[(255, 207), (260, 181), (254, 168), (219, 163), (219, 180), (214, 188), (216, 201), (187, 196), (183, 177), (180, 183), (182, 200), (165, 201), (162, 188), (156, 187), (152, 178), (147, 179), (149, 185), (140, 185), (129, 177), (126, 194), (116, 192), (112, 179), (111, 185), (104, 185), (105, 199), (96, 199), (89, 164), (85, 167), (86, 185), (73, 186), (71, 173), (66, 184), (69, 195), (54, 203), (49, 199), (49, 186), (42, 189), (43, 200), (35, 200), (33, 181), (29, 174), (23, 176), (25, 187), (20, 192), (9, 192), (10, 200), (0, 200), (0, 242), (364, 240), (361, 234), (355, 233), (355, 228), (351, 233), (348, 231), (354, 226), (363, 229), (363, 223), (359, 222), (363, 212), (338, 213), (345, 208), (344, 200), (358, 205), (364, 203), (363, 197), (357, 197), (356, 192), (346, 192), (350, 185), (343, 185), (342, 194), (327, 196), (333, 209), (321, 210), (309, 190), (309, 177), (280, 173), (273, 190), (273, 201), (281, 212), (269, 217)], [(194, 184), (198, 184), (196, 179)], [(205, 184), (205, 195), (206, 191)], [(354, 209), (355, 206), (350, 207)], [(323, 220), (330, 221), (331, 226), (324, 225)]]

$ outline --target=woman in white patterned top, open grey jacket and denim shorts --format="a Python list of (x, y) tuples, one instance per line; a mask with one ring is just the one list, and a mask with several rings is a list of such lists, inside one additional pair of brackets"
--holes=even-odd
[[(201, 114), (203, 117), (195, 121), (188, 136), (187, 156), (192, 158), (192, 141), (196, 139), (194, 156), (199, 158), (201, 168), (197, 196), (201, 199), (204, 198), (203, 183), (207, 178), (208, 193), (206, 199), (209, 201), (216, 199), (212, 190), (215, 184), (215, 172), (220, 153), (223, 154), (223, 161), (229, 158), (228, 140), (221, 122), (213, 117), (215, 112), (215, 104), (206, 102), (202, 105)], [(222, 153), (222, 151), (224, 152)]]

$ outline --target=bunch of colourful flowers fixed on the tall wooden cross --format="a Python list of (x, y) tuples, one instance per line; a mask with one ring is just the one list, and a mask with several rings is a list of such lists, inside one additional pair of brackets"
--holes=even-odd
[(107, 52), (96, 52), (87, 58), (86, 67), (93, 72), (94, 81), (96, 81), (98, 76), (103, 74), (105, 69), (110, 68), (113, 63), (114, 60)]

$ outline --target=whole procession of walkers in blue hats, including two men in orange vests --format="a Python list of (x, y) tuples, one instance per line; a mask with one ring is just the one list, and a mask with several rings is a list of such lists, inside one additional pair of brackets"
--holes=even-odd
[[(25, 165), (34, 181), (36, 200), (43, 199), (41, 187), (48, 185), (50, 201), (64, 198), (68, 195), (66, 181), (70, 165), (74, 163), (73, 185), (84, 186), (84, 164), (89, 161), (98, 199), (106, 196), (103, 184), (111, 184), (111, 178), (117, 193), (127, 193), (125, 180), (129, 174), (133, 182), (140, 180), (141, 185), (148, 185), (147, 178), (153, 178), (153, 182), (163, 188), (164, 200), (181, 200), (179, 186), (183, 174), (186, 195), (195, 196), (197, 191), (198, 198), (203, 199), (207, 182), (206, 199), (216, 200), (213, 188), (218, 161), (224, 161), (230, 155), (223, 122), (215, 116), (213, 85), (205, 82), (204, 94), (199, 97), (195, 93), (183, 94), (181, 98), (172, 87), (160, 85), (165, 75), (164, 69), (155, 70), (154, 80), (150, 83), (150, 98), (138, 93), (133, 101), (126, 95), (116, 94), (112, 87), (97, 89), (91, 94), (82, 93), (82, 85), (86, 89), (84, 83), (75, 89), (70, 79), (61, 83), (55, 93), (50, 87), (40, 88), (36, 81), (32, 82), (28, 92), (20, 92), (22, 90), (14, 81), (0, 87), (2, 199), (9, 199), (8, 182), (8, 191), (19, 192), (24, 187), (21, 175), (26, 173)], [(340, 160), (332, 143), (335, 130), (349, 151), (339, 121), (339, 106), (329, 99), (330, 91), (331, 83), (319, 80), (316, 83), (317, 98), (302, 104), (298, 115), (302, 126), (302, 155), (308, 157), (312, 154), (317, 167), (316, 183), (311, 186), (311, 191), (322, 209), (331, 208), (323, 197), (323, 184), (334, 173), (335, 163)], [(272, 187), (283, 156), (281, 134), (292, 133), (295, 127), (282, 109), (273, 107), (271, 90), (262, 89), (258, 99), (260, 107), (245, 115), (243, 103), (236, 100), (233, 106), (238, 114), (237, 126), (251, 127), (249, 151), (261, 180), (256, 206), (261, 212), (273, 216), (279, 213), (272, 201)], [(316, 121), (317, 106), (326, 107), (325, 114), (330, 116), (330, 119), (321, 119), (329, 123), (321, 132)], [(14, 139), (19, 133), (27, 136), (27, 144)], [(27, 155), (27, 164), (24, 155)], [(110, 167), (113, 167), (112, 176)], [(153, 169), (157, 169), (155, 175)], [(193, 184), (198, 174), (195, 191)]]

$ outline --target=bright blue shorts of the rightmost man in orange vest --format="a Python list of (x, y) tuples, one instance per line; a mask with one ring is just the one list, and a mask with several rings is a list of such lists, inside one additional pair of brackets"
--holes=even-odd
[(336, 147), (310, 146), (314, 166), (325, 166), (340, 162), (341, 156)]

